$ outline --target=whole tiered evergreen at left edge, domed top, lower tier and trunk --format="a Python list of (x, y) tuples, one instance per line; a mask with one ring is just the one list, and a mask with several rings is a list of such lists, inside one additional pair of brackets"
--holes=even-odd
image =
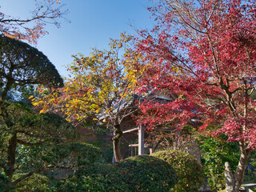
[[(18, 146), (41, 145), (43, 142), (70, 142), (77, 136), (76, 129), (56, 114), (37, 114), (18, 97), (27, 97), (30, 85), (63, 86), (58, 70), (46, 55), (25, 42), (0, 34), (0, 167), (8, 178), (20, 173), (23, 162), (17, 164)], [(17, 94), (16, 90), (20, 92)], [(6, 101), (10, 102), (6, 102)], [(28, 103), (26, 103), (28, 104)], [(31, 162), (32, 169), (37, 158)]]

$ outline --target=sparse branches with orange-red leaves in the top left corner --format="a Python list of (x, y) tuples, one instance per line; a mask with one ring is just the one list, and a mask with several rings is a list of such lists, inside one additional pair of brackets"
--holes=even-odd
[(27, 18), (15, 18), (0, 12), (0, 33), (9, 38), (36, 43), (47, 34), (46, 24), (60, 26), (59, 19), (67, 13), (64, 4), (56, 0), (34, 0), (34, 10)]

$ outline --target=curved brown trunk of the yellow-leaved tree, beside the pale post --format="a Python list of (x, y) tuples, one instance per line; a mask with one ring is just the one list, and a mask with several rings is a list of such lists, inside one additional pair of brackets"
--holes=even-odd
[(113, 140), (113, 150), (114, 150), (114, 158), (116, 162), (119, 162), (122, 160), (122, 154), (120, 150), (120, 142), (122, 138), (122, 130), (120, 125), (114, 126), (114, 138)]

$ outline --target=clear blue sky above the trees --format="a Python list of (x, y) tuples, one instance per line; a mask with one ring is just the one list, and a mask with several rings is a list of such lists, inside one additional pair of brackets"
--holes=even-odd
[[(90, 47), (107, 48), (109, 38), (118, 38), (126, 31), (135, 34), (138, 29), (153, 26), (148, 0), (62, 0), (69, 14), (70, 23), (62, 21), (61, 28), (47, 26), (49, 34), (36, 46), (54, 63), (62, 76), (67, 76), (66, 64), (71, 55), (90, 54)], [(33, 10), (34, 0), (0, 0), (0, 11), (15, 17), (26, 18)]]

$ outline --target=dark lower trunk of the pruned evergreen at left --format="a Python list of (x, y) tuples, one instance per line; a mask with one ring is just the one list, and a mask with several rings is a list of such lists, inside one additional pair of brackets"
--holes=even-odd
[(14, 175), (14, 166), (15, 166), (15, 155), (16, 155), (16, 147), (17, 147), (17, 134), (15, 133), (9, 141), (8, 145), (8, 156), (7, 156), (7, 173), (6, 176), (10, 179), (13, 178)]

